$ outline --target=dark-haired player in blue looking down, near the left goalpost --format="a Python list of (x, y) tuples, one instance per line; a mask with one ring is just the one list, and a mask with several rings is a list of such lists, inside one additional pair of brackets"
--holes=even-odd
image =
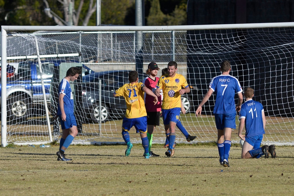
[(57, 115), (59, 116), (62, 136), (59, 144), (59, 151), (56, 153), (57, 160), (69, 161), (71, 159), (65, 158), (64, 151), (69, 147), (74, 137), (78, 134), (76, 117), (74, 116), (74, 97), (71, 92), (70, 81), (75, 81), (82, 73), (78, 67), (71, 67), (66, 71), (66, 76), (59, 84), (59, 104)]

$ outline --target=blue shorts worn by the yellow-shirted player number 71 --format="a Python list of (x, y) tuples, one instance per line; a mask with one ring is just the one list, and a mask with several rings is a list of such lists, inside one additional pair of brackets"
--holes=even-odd
[(136, 128), (136, 133), (147, 133), (147, 116), (133, 119), (123, 118), (122, 128), (124, 131), (130, 131), (133, 126)]

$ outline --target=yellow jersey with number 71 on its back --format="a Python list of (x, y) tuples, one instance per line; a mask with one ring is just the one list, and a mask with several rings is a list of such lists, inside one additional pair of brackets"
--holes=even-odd
[(123, 96), (126, 100), (126, 118), (133, 119), (147, 116), (142, 82), (125, 84), (115, 91), (116, 96)]

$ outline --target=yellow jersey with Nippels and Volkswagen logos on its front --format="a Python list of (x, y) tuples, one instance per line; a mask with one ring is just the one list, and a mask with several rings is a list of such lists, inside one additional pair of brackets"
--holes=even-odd
[(162, 89), (163, 92), (162, 109), (181, 108), (179, 90), (182, 87), (188, 87), (187, 80), (183, 75), (176, 74), (174, 77), (161, 76), (156, 87)]

